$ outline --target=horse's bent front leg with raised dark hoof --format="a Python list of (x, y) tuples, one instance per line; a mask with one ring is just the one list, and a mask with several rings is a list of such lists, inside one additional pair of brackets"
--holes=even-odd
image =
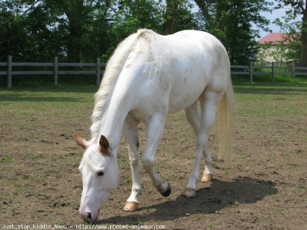
[(163, 135), (164, 122), (165, 116), (160, 113), (153, 114), (150, 119), (147, 120), (146, 150), (142, 161), (143, 168), (148, 173), (152, 185), (156, 187), (162, 196), (167, 197), (171, 193), (170, 185), (161, 179), (153, 167), (158, 144)]

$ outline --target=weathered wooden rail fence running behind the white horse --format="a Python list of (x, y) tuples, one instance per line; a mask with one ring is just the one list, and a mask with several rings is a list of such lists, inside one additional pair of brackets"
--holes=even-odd
[[(12, 87), (12, 75), (25, 75), (25, 74), (51, 74), (54, 75), (54, 85), (58, 85), (59, 74), (95, 74), (96, 84), (100, 84), (100, 74), (104, 71), (101, 67), (105, 67), (105, 63), (100, 63), (100, 58), (97, 57), (96, 63), (61, 63), (58, 62), (58, 57), (54, 57), (53, 62), (12, 62), (12, 56), (8, 56), (7, 62), (0, 62), (0, 67), (7, 67), (7, 71), (0, 71), (0, 75), (7, 75), (7, 87)], [(40, 66), (40, 67), (53, 67), (53, 70), (45, 71), (13, 71), (14, 66)], [(92, 70), (58, 70), (58, 67), (94, 67)], [(292, 75), (292, 80), (295, 81), (296, 75), (307, 75), (307, 72), (295, 72), (296, 70), (307, 70), (307, 67), (295, 67), (294, 62), (290, 67), (276, 67), (272, 62), (272, 66), (253, 66), (253, 62), (250, 61), (249, 66), (231, 66), (231, 69), (244, 69), (245, 71), (231, 71), (231, 74), (245, 74), (249, 75), (250, 82), (253, 82), (253, 75), (268, 74), (272, 76), (272, 81), (275, 81), (275, 74)], [(270, 72), (254, 72), (255, 69), (271, 69)], [(276, 72), (276, 69), (288, 69), (290, 72)]]

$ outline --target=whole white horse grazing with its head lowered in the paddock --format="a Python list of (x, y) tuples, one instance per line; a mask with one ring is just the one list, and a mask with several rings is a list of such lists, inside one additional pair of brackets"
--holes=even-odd
[(138, 30), (122, 41), (109, 59), (95, 94), (92, 139), (86, 141), (74, 134), (77, 144), (85, 149), (79, 166), (83, 180), (81, 217), (96, 221), (102, 202), (117, 187), (116, 158), (121, 132), (128, 143), (133, 180), (124, 210), (137, 210), (141, 192), (140, 121), (147, 126), (143, 168), (159, 193), (170, 195), (170, 185), (157, 174), (153, 163), (167, 114), (180, 110), (185, 111), (197, 137), (195, 163), (184, 192), (186, 197), (194, 197), (202, 157), (205, 159), (202, 181), (209, 181), (213, 176), (207, 141), (219, 104), (220, 153), (229, 164), (234, 97), (229, 58), (220, 41), (208, 33), (193, 30), (167, 36)]

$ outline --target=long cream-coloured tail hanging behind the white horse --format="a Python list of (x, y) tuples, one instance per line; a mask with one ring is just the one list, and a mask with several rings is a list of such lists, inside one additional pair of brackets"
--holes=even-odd
[(220, 141), (220, 158), (224, 160), (227, 168), (230, 166), (233, 149), (233, 124), (234, 124), (234, 94), (231, 77), (220, 103), (217, 117), (217, 132)]

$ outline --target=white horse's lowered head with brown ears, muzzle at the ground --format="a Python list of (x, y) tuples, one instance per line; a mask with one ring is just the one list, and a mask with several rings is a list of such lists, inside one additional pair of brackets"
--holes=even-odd
[(102, 202), (118, 184), (118, 165), (109, 150), (109, 142), (101, 135), (99, 142), (89, 144), (78, 134), (76, 142), (84, 150), (79, 170), (82, 175), (83, 190), (79, 213), (82, 219), (96, 221)]

